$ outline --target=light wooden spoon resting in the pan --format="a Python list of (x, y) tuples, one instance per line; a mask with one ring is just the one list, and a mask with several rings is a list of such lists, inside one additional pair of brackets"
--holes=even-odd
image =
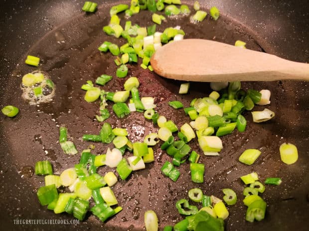
[(162, 77), (186, 81), (309, 81), (309, 64), (203, 39), (168, 43), (154, 53), (151, 65)]

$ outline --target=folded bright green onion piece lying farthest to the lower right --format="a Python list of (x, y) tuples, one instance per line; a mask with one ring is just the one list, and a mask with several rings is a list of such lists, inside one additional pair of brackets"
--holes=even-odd
[(254, 219), (257, 221), (261, 221), (265, 217), (267, 204), (263, 200), (256, 200), (252, 202), (246, 213), (246, 221), (254, 222)]

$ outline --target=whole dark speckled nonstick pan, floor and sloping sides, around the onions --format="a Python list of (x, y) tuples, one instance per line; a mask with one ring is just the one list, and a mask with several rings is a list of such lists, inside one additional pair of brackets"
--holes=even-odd
[[(103, 224), (94, 216), (88, 216), (86, 221), (79, 225), (14, 225), (16, 219), (72, 219), (66, 214), (55, 215), (39, 205), (36, 189), (43, 185), (43, 177), (31, 174), (33, 166), (38, 160), (48, 159), (53, 165), (54, 172), (60, 174), (64, 169), (78, 163), (79, 154), (68, 156), (61, 151), (58, 144), (58, 127), (66, 125), (77, 149), (82, 151), (90, 144), (81, 140), (82, 135), (99, 133), (102, 125), (94, 120), (99, 103), (86, 103), (83, 99), (84, 91), (80, 89), (80, 86), (86, 80), (94, 81), (96, 77), (107, 74), (114, 78), (101, 88), (116, 91), (123, 89), (123, 83), (126, 80), (126, 78), (115, 77), (114, 57), (111, 54), (100, 54), (97, 50), (97, 47), (106, 40), (118, 45), (125, 43), (123, 39), (107, 36), (102, 31), (102, 27), (109, 22), (108, 12), (112, 5), (111, 2), (116, 4), (122, 1), (104, 1), (95, 14), (81, 13), (79, 9), (82, 1), (77, 1), (75, 4), (57, 0), (36, 4), (30, 1), (16, 2), (23, 7), (19, 9), (12, 2), (4, 1), (10, 6), (8, 7), (10, 10), (4, 11), (3, 21), (1, 21), (1, 32), (5, 32), (5, 35), (1, 36), (7, 43), (1, 44), (1, 51), (4, 52), (1, 52), (3, 57), (1, 57), (0, 106), (12, 104), (20, 109), (20, 113), (15, 118), (0, 116), (0, 221), (3, 230), (141, 231), (145, 230), (144, 212), (149, 209), (154, 210), (158, 215), (160, 230), (162, 230), (165, 225), (173, 225), (183, 219), (177, 213), (174, 204), (180, 198), (187, 198), (187, 191), (193, 187), (199, 187), (205, 194), (217, 197), (223, 196), (222, 188), (235, 189), (239, 199), (235, 206), (228, 207), (230, 216), (225, 222), (227, 231), (307, 230), (309, 225), (309, 97), (307, 83), (296, 81), (242, 83), (244, 89), (270, 89), (271, 105), (267, 107), (275, 111), (276, 116), (271, 121), (255, 124), (252, 122), (250, 113), (246, 112), (245, 117), (248, 120), (246, 132), (234, 131), (233, 134), (223, 137), (224, 148), (220, 156), (201, 155), (200, 162), (205, 163), (203, 184), (191, 182), (188, 163), (179, 167), (181, 175), (176, 183), (164, 177), (159, 168), (165, 160), (170, 160), (170, 157), (160, 151), (157, 145), (154, 147), (154, 163), (147, 164), (146, 169), (134, 172), (127, 180), (119, 181), (113, 186), (119, 205), (124, 210), (107, 223)], [(218, 5), (219, 8), (221, 6), (222, 17), (216, 22), (207, 17), (198, 25), (190, 24), (188, 17), (168, 18), (167, 22), (157, 26), (157, 30), (162, 31), (168, 26), (180, 25), (186, 32), (186, 38), (213, 39), (229, 44), (240, 39), (247, 42), (249, 49), (309, 62), (308, 27), (305, 27), (306, 23), (308, 25), (309, 18), (308, 11), (305, 10), (306, 7), (308, 8), (308, 3), (301, 8), (302, 1), (296, 2), (299, 10), (304, 12), (303, 15), (298, 14), (303, 16), (300, 16), (301, 22), (285, 18), (280, 22), (271, 14), (273, 11), (277, 12), (277, 9), (278, 12), (280, 9), (286, 10), (287, 6), (279, 3), (278, 8), (270, 5), (270, 9), (263, 7), (263, 1), (258, 3), (257, 7), (264, 8), (261, 14), (266, 14), (264, 19), (259, 19), (260, 11), (257, 10), (255, 14), (250, 13), (250, 7), (247, 6), (255, 5), (250, 1), (238, 1), (235, 4), (224, 4), (220, 1), (210, 3), (207, 1), (207, 4), (200, 2), (207, 9), (212, 6), (211, 3)], [(28, 11), (26, 7), (29, 7)], [(39, 9), (43, 9), (46, 12), (44, 15), (50, 15), (51, 19), (33, 15)], [(14, 10), (19, 13), (27, 11), (29, 21), (26, 19), (24, 19), (26, 21), (21, 19), (19, 21), (18, 17), (23, 17), (21, 15), (16, 16), (16, 20), (11, 16), (14, 16), (12, 13), (15, 12)], [(273, 15), (280, 15), (278, 12)], [(42, 14), (40, 11), (36, 13)], [(296, 15), (294, 12), (291, 14)], [(123, 18), (122, 14), (121, 17)], [(143, 11), (133, 16), (131, 20), (140, 26), (149, 26), (152, 24), (150, 18), (151, 13)], [(31, 19), (33, 19), (32, 23), (30, 23)], [(34, 19), (40, 24), (37, 28), (33, 25)], [(242, 20), (243, 24), (240, 24)], [(272, 20), (272, 25), (262, 23)], [(16, 30), (21, 26), (18, 21), (23, 23), (25, 28), (24, 31), (19, 31), (20, 35), (14, 32), (14, 28)], [(123, 19), (122, 25), (124, 22)], [(296, 26), (291, 27), (291, 23), (295, 23)], [(14, 24), (16, 27), (12, 26)], [(276, 31), (274, 34), (267, 33), (268, 30), (272, 30), (273, 27), (277, 28), (278, 25), (281, 26), (279, 27), (281, 30), (286, 28), (286, 31), (282, 34)], [(250, 28), (256, 29), (256, 32)], [(293, 32), (298, 29), (302, 32), (293, 35)], [(13, 35), (16, 37), (12, 37)], [(291, 41), (293, 37), (299, 38), (299, 42), (291, 43), (299, 44), (300, 47), (282, 46), (285, 42), (284, 38), (279, 39), (278, 35), (286, 36), (284, 38), (291, 39)], [(29, 42), (29, 39), (34, 38), (33, 36), (35, 36), (35, 44), (33, 44), (34, 41)], [(22, 39), (18, 40), (18, 38), (27, 38), (28, 41), (23, 44), (20, 41)], [(30, 45), (33, 46), (30, 47)], [(54, 81), (56, 94), (52, 102), (31, 106), (21, 98), (22, 92), (19, 87), (21, 77), (36, 70), (36, 68), (23, 64), (27, 54), (40, 57), (41, 65), (38, 69), (48, 73)], [(17, 62), (18, 58), (20, 59)], [(128, 76), (139, 78), (141, 95), (155, 97), (156, 110), (160, 115), (172, 119), (178, 128), (190, 120), (184, 115), (183, 110), (171, 109), (167, 106), (167, 102), (180, 100), (187, 107), (193, 98), (204, 97), (211, 92), (208, 83), (192, 83), (189, 94), (179, 95), (177, 92), (180, 82), (161, 78), (148, 70), (142, 70), (139, 65), (129, 65)], [(256, 106), (255, 108), (263, 110), (264, 107)], [(108, 109), (111, 111), (111, 104)], [(107, 122), (113, 127), (127, 128), (129, 138), (133, 142), (143, 141), (145, 135), (158, 130), (158, 127), (153, 126), (151, 121), (145, 120), (141, 113), (131, 113), (124, 119), (118, 119), (111, 113)], [(291, 166), (285, 165), (280, 160), (279, 146), (284, 142), (293, 143), (299, 149), (299, 160)], [(201, 154), (196, 142), (191, 142), (190, 146)], [(96, 144), (93, 153), (105, 153), (108, 147), (112, 146)], [(249, 148), (259, 149), (262, 154), (252, 166), (245, 166), (237, 159), (245, 149)], [(125, 156), (129, 156), (129, 153)], [(101, 167), (98, 172), (104, 174), (110, 170), (115, 171), (105, 166)], [(267, 186), (263, 194), (263, 198), (268, 203), (266, 218), (262, 222), (250, 224), (244, 220), (246, 212), (242, 204), (244, 185), (239, 177), (252, 171), (258, 172), (261, 181), (267, 177), (281, 177), (283, 183), (280, 186)]]

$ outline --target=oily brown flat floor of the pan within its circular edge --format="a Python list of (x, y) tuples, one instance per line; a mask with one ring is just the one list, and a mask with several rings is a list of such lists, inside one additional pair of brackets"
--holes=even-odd
[[(42, 185), (43, 177), (32, 176), (31, 166), (38, 160), (48, 159), (51, 161), (55, 174), (60, 174), (64, 169), (78, 163), (80, 155), (68, 156), (63, 154), (58, 144), (58, 129), (66, 125), (68, 134), (73, 138), (74, 143), (81, 152), (87, 149), (90, 143), (83, 142), (83, 134), (98, 134), (101, 124), (94, 120), (99, 110), (99, 102), (87, 103), (84, 91), (80, 89), (86, 80), (95, 81), (102, 75), (111, 75), (113, 79), (101, 89), (106, 91), (123, 90), (123, 83), (127, 78), (117, 78), (115, 57), (110, 53), (103, 54), (98, 47), (104, 41), (110, 41), (119, 46), (126, 43), (124, 39), (116, 39), (107, 36), (102, 27), (110, 20), (109, 8), (99, 8), (95, 14), (80, 14), (72, 20), (61, 24), (59, 27), (44, 35), (29, 51), (29, 55), (41, 58), (39, 70), (48, 73), (56, 85), (56, 92), (53, 100), (49, 103), (29, 105), (21, 98), (20, 89), (21, 77), (35, 69), (24, 65), (24, 57), (20, 59), (12, 76), (8, 79), (7, 87), (3, 92), (4, 104), (15, 104), (20, 109), (20, 116), (14, 119), (3, 121), (2, 126), (6, 129), (5, 142), (8, 144), (14, 167), (23, 178), (21, 191), (33, 191)], [(126, 19), (120, 14), (121, 25), (124, 26)], [(132, 24), (150, 26), (151, 13), (142, 11), (130, 18)], [(185, 38), (210, 39), (228, 44), (234, 44), (236, 40), (247, 42), (247, 48), (263, 51), (263, 41), (257, 42), (255, 35), (250, 34), (246, 28), (233, 20), (221, 17), (214, 21), (210, 17), (199, 24), (191, 24), (189, 17), (167, 18), (166, 22), (157, 25), (156, 31), (163, 31), (167, 27), (181, 26), (186, 33)], [(267, 46), (265, 46), (267, 47)], [(264, 48), (265, 49), (265, 48)], [(204, 51), (207, 52), (207, 51)], [(188, 54), (190, 55), (190, 54)], [(175, 54), (177, 59), (177, 54)], [(205, 60), (207, 62), (207, 60)], [(190, 64), (188, 64), (190, 65)], [(180, 110), (171, 109), (167, 102), (179, 100), (184, 106), (189, 106), (193, 98), (205, 97), (211, 92), (208, 83), (191, 83), (190, 92), (187, 95), (179, 95), (181, 82), (165, 79), (143, 70), (139, 65), (128, 65), (129, 76), (139, 78), (141, 96), (152, 96), (155, 98), (156, 110), (160, 115), (175, 122), (179, 128), (190, 119)], [(296, 227), (305, 219), (305, 213), (298, 213), (295, 221), (288, 224), (286, 218), (289, 216), (290, 207), (298, 207), (305, 211), (308, 206), (306, 202), (307, 192), (304, 191), (304, 184), (308, 182), (308, 167), (304, 164), (306, 142), (308, 142), (308, 123), (302, 120), (308, 102), (308, 90), (306, 83), (293, 81), (278, 82), (243, 82), (244, 89), (254, 88), (257, 90), (270, 89), (272, 92), (271, 105), (269, 109), (276, 112), (276, 117), (263, 124), (254, 124), (251, 114), (245, 114), (248, 120), (247, 130), (244, 133), (237, 131), (222, 138), (224, 148), (217, 157), (201, 156), (200, 162), (205, 163), (205, 182), (196, 185), (190, 180), (189, 164), (185, 163), (179, 167), (181, 176), (176, 183), (165, 178), (160, 173), (160, 167), (169, 156), (154, 147), (155, 162), (147, 164), (147, 168), (134, 172), (126, 181), (118, 182), (113, 191), (116, 194), (119, 205), (124, 210), (102, 224), (93, 216), (80, 225), (76, 230), (83, 230), (91, 226), (93, 230), (142, 230), (144, 227), (144, 212), (152, 209), (159, 218), (160, 227), (173, 225), (182, 218), (178, 215), (175, 202), (180, 198), (187, 198), (189, 189), (199, 187), (207, 195), (222, 197), (222, 188), (233, 188), (239, 201), (235, 206), (229, 207), (230, 217), (226, 220), (226, 230), (262, 230), (263, 227), (270, 230), (274, 227), (274, 221), (283, 223), (283, 230), (289, 227)], [(299, 89), (295, 97), (294, 89)], [(303, 91), (302, 91), (303, 90)], [(15, 92), (12, 94), (11, 92)], [(307, 97), (307, 98), (306, 98)], [(304, 101), (306, 100), (306, 101)], [(256, 110), (263, 110), (263, 106), (256, 106)], [(111, 104), (108, 106), (111, 112)], [(306, 115), (305, 115), (306, 116)], [(308, 116), (307, 116), (308, 118)], [(118, 119), (113, 113), (107, 120), (113, 127), (127, 128), (129, 139), (132, 142), (143, 142), (144, 136), (151, 132), (157, 132), (158, 127), (151, 121), (144, 119), (142, 113), (131, 113), (124, 119)], [(299, 133), (303, 133), (304, 139), (300, 140)], [(283, 142), (290, 142), (299, 147), (299, 161), (287, 167), (280, 161), (279, 146)], [(104, 154), (112, 145), (95, 144), (94, 154)], [(192, 150), (201, 154), (195, 142), (191, 142)], [(262, 151), (262, 155), (250, 166), (244, 166), (238, 161), (239, 155), (246, 149), (255, 148)], [(125, 154), (129, 156), (129, 153)], [(9, 166), (7, 166), (9, 167)], [(99, 173), (115, 171), (107, 166), (101, 167)], [(267, 177), (282, 177), (284, 182), (280, 187), (267, 187), (263, 198), (268, 202), (269, 208), (265, 221), (259, 224), (248, 224), (244, 215), (246, 208), (243, 206), (242, 190), (244, 185), (239, 177), (257, 171), (261, 179)], [(30, 172), (30, 173), (29, 173)], [(20, 181), (20, 180), (18, 180)], [(284, 190), (283, 190), (284, 189)], [(13, 195), (18, 198), (17, 195)], [(21, 213), (27, 211), (26, 206), (34, 203), (32, 217), (44, 214), (43, 216), (57, 219), (52, 211), (41, 208), (36, 201), (35, 193), (33, 198), (21, 208)], [(305, 203), (303, 203), (305, 201)], [(200, 206), (199, 206), (200, 207)], [(37, 211), (35, 211), (37, 210)], [(277, 211), (280, 210), (280, 213)], [(307, 212), (308, 215), (308, 212)], [(24, 216), (26, 216), (24, 214)], [(69, 218), (67, 215), (62, 217)], [(285, 222), (284, 222), (285, 221)], [(103, 225), (103, 227), (102, 227)], [(295, 225), (295, 226), (294, 226)], [(48, 228), (46, 228), (48, 229)]]

